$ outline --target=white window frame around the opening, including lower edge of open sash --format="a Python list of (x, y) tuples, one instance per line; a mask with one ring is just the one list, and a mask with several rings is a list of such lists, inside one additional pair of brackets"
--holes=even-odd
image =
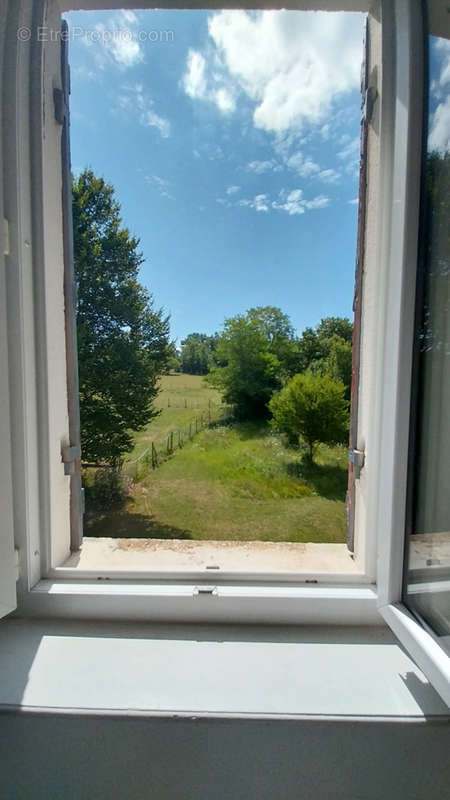
[[(420, 0), (380, 0), (382, 59), (378, 124), (382, 155), (377, 178), (376, 232), (369, 253), (372, 297), (363, 300), (361, 392), (370, 402), (361, 422), (366, 466), (356, 493), (361, 573), (302, 575), (288, 584), (280, 576), (234, 576), (214, 587), (198, 579), (78, 580), (53, 576), (69, 555), (68, 481), (61, 446), (68, 443), (63, 307), (60, 129), (48, 114), (53, 88), (60, 88), (58, 48), (36, 41), (39, 27), (59, 30), (65, 10), (159, 8), (147, 0), (15, 0), (9, 3), (4, 93), (10, 126), (11, 191), (4, 193), (8, 220), (8, 353), (0, 351), (8, 376), (14, 543), (19, 552), (19, 613), (25, 616), (176, 621), (240, 621), (297, 624), (382, 624), (392, 627), (419, 666), (450, 703), (448, 659), (432, 634), (402, 603), (406, 480), (414, 328), (415, 275), (420, 196), (423, 76)], [(223, 8), (227, 3), (167, 7)], [(245, 8), (250, 4), (231, 3)], [(265, 7), (266, 3), (259, 3)], [(378, 4), (376, 3), (375, 6)], [(365, 0), (270, 2), (270, 8), (367, 11)], [(11, 8), (14, 11), (11, 11)], [(436, 3), (437, 7), (437, 3)], [(377, 11), (377, 14), (378, 14)], [(437, 17), (439, 17), (438, 10)], [(18, 29), (29, 42), (11, 42)], [(46, 111), (47, 113), (43, 113)], [(45, 128), (44, 128), (45, 125)], [(7, 200), (7, 202), (6, 202)], [(369, 264), (370, 266), (370, 264)], [(375, 275), (375, 277), (374, 277)], [(364, 306), (366, 303), (366, 306)], [(368, 308), (371, 308), (370, 325)], [(59, 335), (58, 335), (59, 334)], [(374, 358), (376, 353), (376, 358)], [(9, 359), (8, 363), (5, 359)], [(6, 367), (5, 367), (6, 364)], [(64, 365), (64, 366), (63, 366)], [(364, 408), (364, 398), (360, 408)], [(365, 422), (364, 422), (365, 420)], [(366, 426), (364, 428), (364, 425)], [(7, 444), (8, 430), (0, 428)], [(3, 451), (2, 451), (3, 452)], [(4, 451), (8, 456), (8, 451)], [(361, 529), (364, 521), (364, 536)], [(358, 534), (359, 527), (359, 534)], [(8, 539), (11, 554), (10, 537)], [(45, 577), (47, 576), (47, 577)], [(314, 586), (310, 580), (317, 580)], [(210, 577), (209, 577), (210, 581)], [(308, 584), (308, 585), (306, 585)]]

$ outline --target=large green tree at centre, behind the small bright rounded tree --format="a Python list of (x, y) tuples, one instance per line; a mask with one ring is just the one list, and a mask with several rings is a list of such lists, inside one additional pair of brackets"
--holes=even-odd
[(267, 416), (267, 403), (281, 385), (280, 364), (258, 321), (238, 315), (226, 320), (216, 351), (219, 362), (207, 380), (223, 392), (241, 419)]

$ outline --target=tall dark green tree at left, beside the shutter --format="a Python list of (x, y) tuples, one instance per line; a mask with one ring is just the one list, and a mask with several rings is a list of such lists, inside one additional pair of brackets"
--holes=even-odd
[(169, 318), (138, 281), (139, 240), (113, 187), (84, 170), (72, 183), (83, 459), (116, 465), (153, 406), (169, 356)]

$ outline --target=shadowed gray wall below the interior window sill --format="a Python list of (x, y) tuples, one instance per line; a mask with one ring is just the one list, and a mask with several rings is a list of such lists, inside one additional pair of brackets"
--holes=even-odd
[(0, 714), (2, 800), (444, 800), (445, 722)]

